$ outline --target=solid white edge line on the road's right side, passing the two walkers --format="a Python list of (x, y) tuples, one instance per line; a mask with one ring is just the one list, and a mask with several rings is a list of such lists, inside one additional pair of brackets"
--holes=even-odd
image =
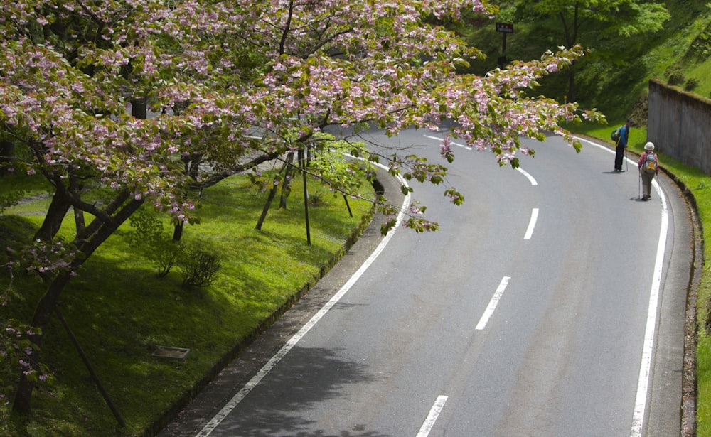
[[(596, 144), (587, 139), (579, 138), (577, 136), (575, 138), (580, 141), (584, 141), (587, 144), (597, 146), (605, 151), (615, 153), (614, 150), (611, 150), (605, 146), (601, 146), (600, 144)], [(636, 162), (634, 160), (631, 160), (627, 157), (625, 157), (625, 159), (636, 165)], [(667, 201), (664, 196), (664, 193), (661, 190), (661, 186), (657, 182), (656, 178), (652, 180), (652, 186), (654, 187), (655, 192), (659, 196), (661, 203), (661, 226), (659, 227), (659, 241), (657, 243), (657, 254), (654, 260), (654, 274), (652, 276), (652, 286), (649, 292), (647, 324), (644, 331), (642, 358), (639, 364), (639, 379), (637, 382), (637, 395), (634, 403), (634, 414), (632, 415), (632, 428), (630, 431), (630, 437), (642, 436), (642, 428), (644, 426), (644, 415), (646, 414), (647, 410), (647, 398), (649, 397), (649, 378), (651, 377), (652, 355), (654, 351), (657, 313), (659, 306), (659, 290), (661, 288), (662, 267), (664, 264), (664, 251), (666, 247), (666, 238), (669, 226)]]

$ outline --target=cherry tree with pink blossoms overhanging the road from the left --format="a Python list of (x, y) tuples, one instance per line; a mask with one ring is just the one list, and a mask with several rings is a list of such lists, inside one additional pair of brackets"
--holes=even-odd
[[(338, 166), (309, 171), (350, 195), (343, 175), (390, 173), (444, 187), (454, 159), (451, 138), (518, 166), (532, 154), (520, 136), (565, 137), (565, 121), (601, 119), (574, 103), (528, 97), (536, 80), (570, 65), (577, 47), (515, 62), (486, 77), (457, 75), (480, 55), (437, 23), (461, 11), (490, 14), (480, 0), (17, 0), (0, 11), (0, 129), (28, 151), (15, 171), (53, 186), (43, 225), (9, 264), (46, 283), (23, 347), (14, 410), (31, 411), (41, 372), (39, 346), (63, 288), (141, 205), (177, 222), (196, 220), (188, 188), (208, 186), (262, 163), (286, 163), (312, 148)], [(442, 163), (393, 153), (374, 156), (357, 137), (327, 126), (379, 126), (390, 135), (412, 126), (455, 127)], [(363, 158), (353, 160), (351, 156)], [(333, 171), (343, 168), (344, 171)], [(321, 170), (319, 170), (319, 168)], [(104, 198), (86, 195), (102, 188)], [(412, 188), (403, 188), (412, 190)], [(383, 212), (394, 208), (375, 200)], [(73, 238), (59, 239), (73, 211)], [(394, 225), (394, 221), (388, 226)], [(437, 223), (412, 214), (417, 231)], [(383, 229), (385, 232), (387, 227)], [(13, 328), (18, 331), (17, 327)]]

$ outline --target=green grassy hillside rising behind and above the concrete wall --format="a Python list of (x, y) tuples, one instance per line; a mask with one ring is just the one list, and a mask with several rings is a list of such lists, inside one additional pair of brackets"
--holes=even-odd
[[(665, 2), (670, 20), (655, 33), (622, 38), (606, 35), (602, 25), (594, 22), (583, 27), (578, 41), (589, 55), (574, 65), (580, 106), (597, 107), (611, 124), (631, 114), (637, 124), (646, 124), (646, 90), (652, 77), (710, 97), (711, 8), (707, 4), (708, 0)], [(513, 9), (501, 6), (496, 21), (509, 21), (514, 26), (514, 32), (506, 37), (508, 60), (538, 58), (545, 50), (565, 45), (557, 18), (530, 18), (523, 23), (516, 19)], [(497, 68), (503, 35), (493, 21), (472, 18), (458, 31), (486, 54), (486, 59), (471, 64), (471, 72), (486, 74)], [(567, 95), (567, 75), (551, 75), (533, 93), (562, 102)]]

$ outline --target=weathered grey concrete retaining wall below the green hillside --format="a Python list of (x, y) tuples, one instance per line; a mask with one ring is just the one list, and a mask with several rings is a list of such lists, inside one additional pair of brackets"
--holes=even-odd
[(650, 80), (647, 140), (711, 175), (711, 99)]

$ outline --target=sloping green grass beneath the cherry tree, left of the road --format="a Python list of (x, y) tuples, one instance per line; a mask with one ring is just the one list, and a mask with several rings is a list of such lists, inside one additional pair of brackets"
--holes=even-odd
[[(302, 193), (294, 180), (293, 193)], [(141, 435), (177, 399), (194, 390), (215, 363), (232, 354), (306, 284), (314, 284), (340, 257), (346, 241), (369, 222), (372, 205), (349, 199), (316, 183), (309, 185), (311, 245), (306, 244), (304, 204), (292, 195), (288, 209), (270, 210), (262, 231), (255, 230), (266, 193), (249, 180), (232, 177), (203, 193), (200, 225), (186, 227), (183, 242), (217, 254), (222, 269), (208, 288), (183, 288), (173, 269), (159, 278), (141, 248), (129, 242), (125, 225), (87, 261), (63, 292), (60, 310), (95, 367), (127, 426), (119, 428), (57, 318), (46, 331), (43, 357), (55, 383), (33, 397), (33, 416), (21, 421), (0, 407), (0, 434), (9, 436)], [(364, 189), (373, 197), (372, 188)], [(27, 241), (41, 224), (46, 200), (31, 200), (0, 215), (0, 243), (9, 235)], [(274, 203), (274, 207), (277, 203)], [(71, 223), (66, 223), (71, 228)], [(166, 223), (166, 232), (169, 227)], [(6, 278), (1, 278), (6, 286)], [(18, 278), (4, 318), (27, 320), (41, 289)], [(186, 347), (186, 360), (152, 357), (160, 345)], [(11, 395), (16, 374), (1, 374)], [(10, 399), (8, 397), (8, 399)]]

